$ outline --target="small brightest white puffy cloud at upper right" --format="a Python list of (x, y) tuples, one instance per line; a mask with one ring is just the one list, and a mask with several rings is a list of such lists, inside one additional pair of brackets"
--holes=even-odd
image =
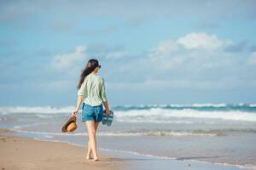
[(190, 33), (177, 39), (177, 43), (187, 49), (216, 49), (232, 44), (230, 40), (221, 41), (215, 35), (206, 33)]

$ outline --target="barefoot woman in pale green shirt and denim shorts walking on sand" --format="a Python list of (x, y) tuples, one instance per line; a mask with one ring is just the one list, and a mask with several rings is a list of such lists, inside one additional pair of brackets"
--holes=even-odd
[(108, 101), (105, 93), (104, 79), (97, 75), (101, 68), (97, 59), (90, 59), (81, 73), (78, 84), (77, 107), (73, 111), (73, 116), (79, 112), (82, 106), (82, 121), (85, 122), (89, 140), (86, 159), (91, 158), (91, 152), (94, 161), (98, 161), (96, 152), (96, 130), (102, 121), (103, 107), (106, 109), (106, 115), (109, 115)]

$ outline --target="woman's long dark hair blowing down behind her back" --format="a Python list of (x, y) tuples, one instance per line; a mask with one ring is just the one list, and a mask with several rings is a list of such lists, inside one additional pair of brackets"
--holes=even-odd
[(82, 70), (82, 73), (80, 75), (80, 80), (79, 80), (79, 84), (77, 86), (77, 88), (81, 88), (83, 82), (84, 82), (84, 78), (87, 77), (92, 71), (94, 71), (96, 69), (96, 67), (99, 66), (99, 62), (97, 59), (90, 59), (87, 62), (87, 65), (85, 66), (85, 68)]

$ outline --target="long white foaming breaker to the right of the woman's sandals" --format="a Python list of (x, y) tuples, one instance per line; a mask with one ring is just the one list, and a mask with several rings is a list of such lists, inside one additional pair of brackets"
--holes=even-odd
[(129, 122), (130, 120), (168, 122), (170, 120), (173, 121), (174, 118), (256, 122), (256, 114), (244, 111), (195, 111), (191, 109), (165, 110), (152, 108), (149, 110), (115, 111), (115, 116), (117, 121), (121, 120), (123, 122)]

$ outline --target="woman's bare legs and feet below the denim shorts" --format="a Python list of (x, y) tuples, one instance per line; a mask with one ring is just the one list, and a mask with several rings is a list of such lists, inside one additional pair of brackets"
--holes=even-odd
[(98, 161), (98, 156), (96, 152), (96, 129), (98, 127), (99, 123), (94, 121), (86, 121), (86, 127), (88, 131), (89, 136), (89, 142), (88, 142), (88, 152), (86, 158), (90, 158), (90, 153), (93, 154), (93, 159), (95, 161)]

